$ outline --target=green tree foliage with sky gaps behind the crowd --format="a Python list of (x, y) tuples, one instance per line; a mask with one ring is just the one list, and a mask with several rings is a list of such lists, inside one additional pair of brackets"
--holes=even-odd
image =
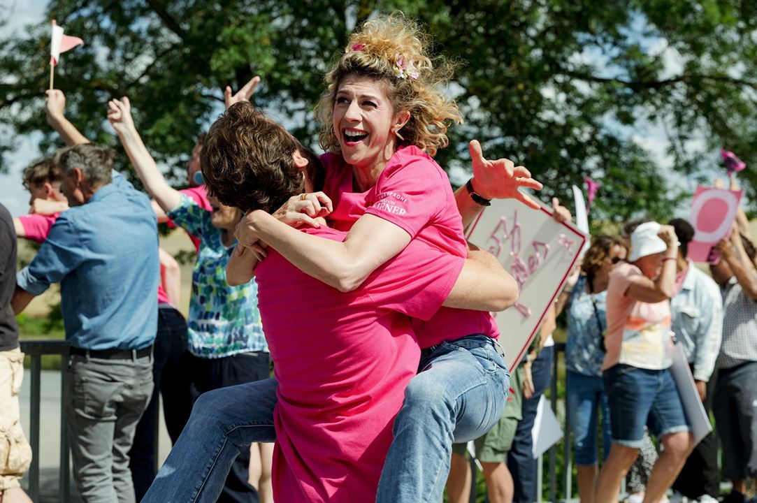
[[(155, 157), (175, 174), (223, 108), (221, 89), (263, 77), (254, 101), (316, 146), (313, 104), (350, 30), (375, 12), (419, 17), (435, 51), (459, 61), (450, 92), (466, 123), (442, 166), (466, 168), (466, 142), (531, 169), (543, 198), (602, 184), (592, 215), (670, 216), (724, 146), (757, 166), (757, 3), (751, 0), (51, 0), (49, 19), (83, 36), (56, 87), (67, 115), (114, 144), (106, 102), (128, 95)], [(48, 23), (0, 39), (2, 147), (45, 125)], [(668, 139), (659, 166), (639, 137)], [(653, 138), (656, 139), (656, 138)], [(749, 190), (757, 174), (740, 175)], [(677, 177), (677, 178), (676, 178)]]

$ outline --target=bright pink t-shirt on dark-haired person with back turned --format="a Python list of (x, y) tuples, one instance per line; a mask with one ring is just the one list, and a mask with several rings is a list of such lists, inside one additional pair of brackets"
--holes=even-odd
[[(326, 227), (304, 232), (346, 236)], [(269, 249), (255, 279), (279, 380), (276, 501), (375, 501), (394, 415), (419, 361), (407, 316), (431, 317), (462, 268), (461, 257), (416, 240), (341, 293)]]

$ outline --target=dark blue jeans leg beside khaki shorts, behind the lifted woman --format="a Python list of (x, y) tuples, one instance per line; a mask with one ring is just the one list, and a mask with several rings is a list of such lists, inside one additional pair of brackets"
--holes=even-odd
[(531, 436), (531, 430), (536, 421), (539, 399), (550, 386), (553, 358), (554, 346), (544, 347), (531, 366), (534, 396), (523, 400), (523, 419), (518, 422), (516, 436), (512, 440), (512, 449), (507, 455), (507, 467), (512, 474), (512, 482), (515, 484), (512, 499), (515, 503), (531, 503), (536, 496), (536, 460), (534, 460), (534, 439)]

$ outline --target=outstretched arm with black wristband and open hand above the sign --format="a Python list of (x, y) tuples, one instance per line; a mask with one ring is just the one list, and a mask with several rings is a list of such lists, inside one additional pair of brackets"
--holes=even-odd
[[(519, 191), (520, 188), (533, 188), (541, 190), (540, 182), (531, 178), (531, 172), (523, 166), (515, 166), (511, 160), (484, 159), (481, 152), (481, 144), (478, 140), (472, 140), (469, 144), (471, 160), (473, 165), (473, 178), (471, 185), (473, 191), (486, 200), (492, 199), (517, 199), (526, 206), (539, 209), (539, 203), (532, 200), (526, 194)], [(455, 191), (455, 201), (460, 216), (463, 217), (463, 226), (467, 227), (478, 213), (484, 209), (481, 203), (477, 203), (466, 187), (460, 187)]]

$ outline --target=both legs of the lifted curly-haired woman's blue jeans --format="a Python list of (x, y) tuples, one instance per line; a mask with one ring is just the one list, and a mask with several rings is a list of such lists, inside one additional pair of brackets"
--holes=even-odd
[[(425, 349), (420, 368), (394, 421), (394, 442), (378, 487), (384, 501), (441, 500), (452, 443), (483, 435), (504, 410), (509, 374), (489, 337), (463, 337)], [(201, 395), (142, 501), (216, 501), (240, 449), (275, 441), (277, 386), (267, 379)], [(407, 470), (413, 470), (412, 477)], [(397, 498), (397, 492), (422, 497)]]

